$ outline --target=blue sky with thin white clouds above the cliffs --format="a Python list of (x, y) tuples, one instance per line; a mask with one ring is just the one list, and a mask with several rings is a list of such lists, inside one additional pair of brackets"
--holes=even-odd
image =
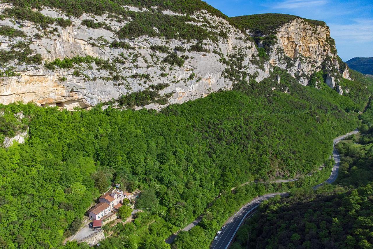
[(325, 21), (342, 60), (373, 57), (373, 0), (205, 0), (228, 16), (285, 13)]

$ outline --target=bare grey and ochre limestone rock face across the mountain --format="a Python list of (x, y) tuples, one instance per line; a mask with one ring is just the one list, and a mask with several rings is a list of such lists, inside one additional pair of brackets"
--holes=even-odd
[[(131, 12), (152, 11), (127, 7)], [(1, 12), (9, 12), (12, 8), (12, 4), (0, 3)], [(242, 80), (255, 78), (260, 81), (269, 76), (273, 66), (286, 69), (303, 85), (307, 85), (310, 75), (322, 67), (330, 69), (329, 80), (334, 77), (331, 87), (335, 87), (334, 81), (338, 78), (332, 75), (332, 72), (339, 72), (339, 65), (329, 28), (311, 25), (300, 18), (275, 31), (277, 41), (271, 47), (269, 60), (262, 61), (250, 30), (239, 30), (226, 19), (206, 10), (196, 11), (191, 15), (195, 21), (188, 24), (208, 33), (224, 35), (203, 41), (147, 35), (120, 39), (117, 31), (131, 23), (130, 18), (118, 20), (109, 13), (101, 16), (84, 13), (73, 17), (46, 7), (40, 13), (56, 20), (69, 19), (71, 24), (67, 27), (50, 24), (41, 30), (33, 22), (15, 16), (6, 16), (0, 21), (0, 26), (24, 34), (0, 36), (3, 53), (18, 52), (19, 44), (23, 44), (23, 53), (32, 51), (29, 53), (31, 62), (36, 61), (32, 56), (41, 56), (40, 63), (15, 59), (1, 65), (0, 102), (3, 104), (33, 101), (42, 106), (57, 105), (71, 110), (150, 90), (159, 101), (146, 103), (145, 107), (157, 109), (201, 98), (219, 89), (231, 89), (237, 80), (230, 76), (232, 70), (242, 74)], [(183, 15), (169, 10), (162, 14)], [(93, 28), (87, 25), (87, 20), (105, 25)], [(156, 27), (153, 28), (159, 33)], [(85, 59), (69, 67), (50, 63), (74, 56), (90, 56), (91, 61)], [(178, 64), (178, 60), (182, 63)], [(337, 74), (349, 77), (348, 69)]]

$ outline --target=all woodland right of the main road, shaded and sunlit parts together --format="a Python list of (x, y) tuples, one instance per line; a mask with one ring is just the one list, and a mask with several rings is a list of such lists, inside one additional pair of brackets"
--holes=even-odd
[(336, 145), (341, 154), (338, 185), (271, 200), (239, 229), (232, 248), (246, 248), (249, 231), (251, 248), (372, 247), (372, 103), (360, 117), (363, 134)]

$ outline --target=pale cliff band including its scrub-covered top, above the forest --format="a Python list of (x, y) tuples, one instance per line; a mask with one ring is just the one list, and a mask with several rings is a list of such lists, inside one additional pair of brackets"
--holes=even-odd
[(242, 24), (250, 17), (238, 22), (199, 0), (2, 1), (0, 11), (3, 104), (159, 109), (259, 82), (274, 66), (303, 85), (323, 70), (339, 92), (349, 79), (325, 23), (296, 16), (256, 16), (285, 21), (253, 36)]

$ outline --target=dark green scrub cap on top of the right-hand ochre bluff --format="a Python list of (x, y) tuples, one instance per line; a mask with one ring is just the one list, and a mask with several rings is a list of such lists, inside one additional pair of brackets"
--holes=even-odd
[[(241, 30), (250, 30), (252, 33), (268, 35), (273, 33), (277, 28), (288, 23), (295, 18), (301, 18), (299, 16), (286, 15), (286, 14), (257, 14), (257, 15), (248, 15), (248, 16), (237, 16), (232, 17), (231, 22), (233, 22)], [(325, 22), (316, 21), (301, 18), (304, 21), (312, 25), (321, 25), (325, 26)]]

